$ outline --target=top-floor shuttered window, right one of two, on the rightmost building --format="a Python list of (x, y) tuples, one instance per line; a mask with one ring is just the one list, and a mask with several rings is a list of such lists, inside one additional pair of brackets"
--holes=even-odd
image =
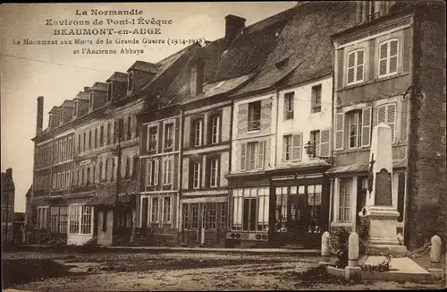
[(391, 76), (397, 73), (399, 56), (399, 41), (390, 39), (379, 46), (379, 77)]

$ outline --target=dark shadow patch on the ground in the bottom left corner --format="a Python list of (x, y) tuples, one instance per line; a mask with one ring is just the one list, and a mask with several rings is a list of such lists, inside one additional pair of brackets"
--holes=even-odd
[(85, 274), (69, 271), (70, 265), (46, 259), (3, 259), (2, 262), (2, 289), (39, 279)]

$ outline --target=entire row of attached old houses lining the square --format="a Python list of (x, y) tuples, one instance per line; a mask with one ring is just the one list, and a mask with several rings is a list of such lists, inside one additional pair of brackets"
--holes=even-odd
[(445, 234), (445, 11), (299, 2), (221, 39), (38, 98), (29, 225), (69, 244), (312, 245), (355, 228), (392, 127), (406, 244)]

